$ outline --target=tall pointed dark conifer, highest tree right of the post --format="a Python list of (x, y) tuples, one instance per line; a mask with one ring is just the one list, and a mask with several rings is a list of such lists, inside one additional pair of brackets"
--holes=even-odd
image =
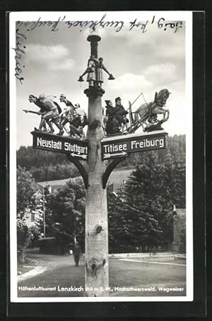
[(160, 190), (162, 178), (156, 153), (148, 153), (148, 158), (132, 173), (126, 182), (124, 192), (125, 216), (130, 223), (132, 247), (151, 250), (161, 242), (163, 230), (158, 224), (158, 216), (163, 212)]

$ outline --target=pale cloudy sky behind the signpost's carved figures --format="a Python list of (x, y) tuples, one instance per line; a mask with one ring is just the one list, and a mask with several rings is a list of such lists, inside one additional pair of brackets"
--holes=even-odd
[[(129, 18), (123, 21), (124, 27), (119, 32), (114, 27), (97, 30), (101, 36), (98, 56), (103, 57), (103, 63), (115, 78), (110, 81), (104, 73), (102, 106), (105, 107), (105, 100), (114, 103), (114, 98), (120, 96), (127, 109), (129, 100), (132, 103), (143, 93), (134, 103), (134, 111), (145, 103), (143, 97), (151, 102), (155, 91), (167, 88), (171, 92), (166, 104), (170, 119), (163, 127), (171, 136), (186, 134), (189, 117), (185, 100), (186, 23), (183, 21), (182, 28), (175, 32), (171, 28), (159, 29), (157, 23), (151, 24), (149, 19), (143, 33), (140, 27), (129, 30)], [(66, 23), (60, 22), (57, 31), (47, 25), (33, 30), (18, 25), (18, 29), (26, 39), (21, 43), (25, 46), (25, 54), (20, 59), (20, 64), (25, 66), (22, 67), (23, 84), (16, 80), (17, 148), (32, 146), (30, 132), (40, 123), (40, 116), (23, 112), (23, 109), (37, 110), (28, 102), (28, 95), (55, 95), (59, 103), (59, 95), (64, 93), (72, 103), (80, 103), (88, 111), (88, 98), (83, 93), (88, 88), (86, 76), (83, 83), (77, 80), (86, 70), (90, 57), (90, 42), (86, 40), (89, 28), (68, 28)], [(62, 109), (65, 107), (64, 103), (60, 105)]]

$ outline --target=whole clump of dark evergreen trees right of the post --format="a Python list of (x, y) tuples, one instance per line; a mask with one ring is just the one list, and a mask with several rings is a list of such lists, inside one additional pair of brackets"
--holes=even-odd
[(173, 205), (184, 207), (185, 165), (167, 153), (141, 157), (142, 163), (127, 180), (124, 191), (108, 195), (109, 244), (112, 250), (134, 251), (172, 241)]

